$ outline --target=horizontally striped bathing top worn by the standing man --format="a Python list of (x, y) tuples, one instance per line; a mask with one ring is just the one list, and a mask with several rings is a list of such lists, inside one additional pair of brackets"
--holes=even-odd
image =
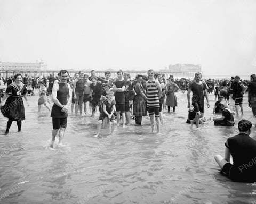
[(147, 82), (147, 107), (148, 108), (159, 108), (158, 88), (156, 87), (155, 80)]

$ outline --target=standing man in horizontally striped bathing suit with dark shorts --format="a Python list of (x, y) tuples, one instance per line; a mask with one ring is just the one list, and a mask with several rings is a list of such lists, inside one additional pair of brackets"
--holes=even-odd
[(147, 109), (150, 117), (152, 132), (154, 131), (154, 114), (156, 118), (157, 133), (160, 132), (159, 119), (159, 98), (162, 96), (162, 89), (158, 80), (154, 79), (154, 70), (148, 70), (147, 88)]

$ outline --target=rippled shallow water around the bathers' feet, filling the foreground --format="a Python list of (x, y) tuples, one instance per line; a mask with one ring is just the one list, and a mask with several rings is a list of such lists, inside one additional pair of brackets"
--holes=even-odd
[[(42, 107), (38, 114), (38, 96), (29, 97), (22, 132), (14, 122), (4, 136), (7, 120), (0, 116), (0, 203), (256, 203), (256, 185), (229, 181), (213, 158), (224, 155), (241, 117), (235, 116), (235, 128), (210, 121), (196, 130), (185, 123), (186, 94), (177, 98), (175, 114), (164, 110), (160, 135), (143, 117), (141, 127), (118, 127), (111, 137), (102, 129), (98, 139), (97, 117), (70, 114), (65, 147), (51, 151), (50, 113)], [(247, 94), (244, 118), (252, 120), (246, 101)], [(213, 94), (210, 105), (207, 118), (213, 117)]]

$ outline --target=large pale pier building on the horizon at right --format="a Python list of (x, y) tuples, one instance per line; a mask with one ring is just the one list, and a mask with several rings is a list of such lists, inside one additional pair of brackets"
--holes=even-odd
[(168, 69), (160, 70), (168, 71), (174, 75), (184, 75), (184, 76), (193, 76), (196, 72), (202, 72), (201, 65), (197, 64), (175, 64), (169, 65)]

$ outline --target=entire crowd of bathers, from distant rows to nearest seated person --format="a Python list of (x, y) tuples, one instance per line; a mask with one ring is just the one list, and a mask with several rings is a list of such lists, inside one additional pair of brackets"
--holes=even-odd
[[(21, 121), (25, 120), (25, 108), (23, 97), (27, 100), (27, 95), (35, 95), (39, 92), (38, 112), (44, 104), (52, 117), (52, 142), (50, 148), (54, 148), (55, 137), (59, 137), (59, 145), (62, 145), (65, 130), (67, 128), (67, 117), (69, 105), (71, 111), (76, 115), (89, 113), (87, 103), (91, 107), (91, 117), (95, 116), (98, 107), (99, 118), (97, 134), (100, 138), (100, 129), (103, 121), (111, 126), (113, 133), (116, 126), (130, 125), (131, 118), (134, 117), (136, 125), (141, 125), (142, 117), (149, 115), (152, 132), (160, 133), (160, 124), (163, 124), (163, 108), (167, 106), (167, 111), (175, 112), (177, 106), (177, 92), (182, 87), (182, 92), (187, 90), (188, 99), (188, 120), (187, 123), (204, 124), (204, 100), (207, 101), (207, 108), (210, 107), (208, 94), (214, 91), (216, 103), (213, 113), (221, 113), (222, 117), (213, 118), (214, 125), (234, 126), (234, 114), (239, 115), (238, 107), (243, 112), (243, 95), (248, 92), (248, 105), (252, 109), (253, 118), (256, 117), (256, 75), (251, 75), (251, 80), (242, 81), (237, 75), (230, 80), (202, 80), (201, 73), (195, 73), (194, 80), (175, 80), (173, 75), (165, 79), (162, 73), (155, 73), (148, 70), (147, 76), (138, 74), (133, 80), (130, 74), (123, 71), (117, 72), (117, 78), (111, 79), (111, 73), (106, 72), (104, 77), (97, 77), (95, 71), (91, 75), (79, 71), (70, 77), (67, 70), (61, 70), (57, 77), (50, 74), (48, 78), (29, 78), (26, 74), (14, 76), (14, 81), (10, 79), (0, 79), (0, 90), (3, 101), (0, 103), (1, 113), (8, 118), (5, 135), (9, 134), (9, 129), (13, 121), (17, 121), (18, 131), (21, 131)], [(23, 82), (23, 83), (22, 83)], [(7, 88), (5, 89), (5, 83)], [(31, 88), (29, 88), (31, 86)], [(30, 90), (30, 92), (29, 92)], [(5, 94), (3, 94), (5, 92)], [(192, 98), (190, 100), (190, 94)], [(53, 106), (50, 109), (49, 96), (52, 95)], [(229, 97), (235, 101), (236, 113), (229, 108)], [(2, 98), (2, 96), (1, 96)], [(190, 104), (191, 101), (191, 104)], [(0, 101), (1, 102), (1, 101)], [(83, 107), (84, 106), (84, 107)], [(74, 111), (75, 108), (75, 111)], [(122, 117), (122, 123), (121, 123)], [(103, 123), (104, 124), (104, 123)], [(255, 182), (256, 176), (256, 141), (249, 137), (252, 132), (252, 123), (248, 120), (241, 120), (238, 123), (239, 134), (228, 138), (225, 143), (225, 158), (220, 155), (215, 156), (215, 160), (222, 171), (234, 181)], [(232, 155), (234, 164), (230, 163)]]

